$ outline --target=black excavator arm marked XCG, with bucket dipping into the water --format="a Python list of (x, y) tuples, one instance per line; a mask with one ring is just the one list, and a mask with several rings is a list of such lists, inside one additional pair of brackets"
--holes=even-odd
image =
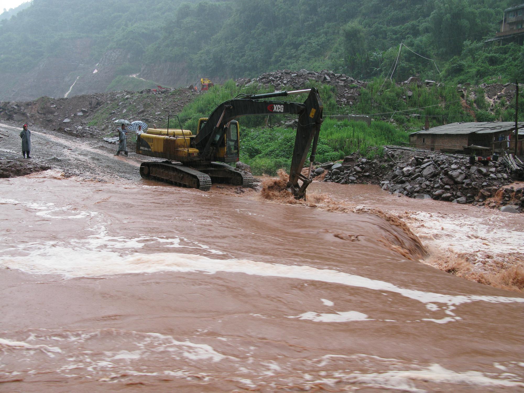
[[(261, 99), (287, 96), (289, 94), (305, 93), (309, 91), (308, 98), (304, 103), (284, 102), (284, 101), (265, 101)], [(289, 182), (287, 189), (296, 198), (304, 198), (305, 189), (311, 180), (301, 174), (305, 159), (308, 155), (311, 141), (313, 147), (310, 156), (311, 164), (314, 161), (316, 144), (318, 143), (320, 126), (322, 124), (323, 105), (317, 89), (307, 89), (299, 91), (282, 91), (268, 94), (247, 95), (223, 102), (215, 108), (208, 118), (208, 121), (196, 135), (194, 144), (204, 157), (211, 157), (213, 146), (222, 138), (225, 126), (239, 116), (247, 115), (275, 115), (275, 114), (297, 114), (298, 126), (297, 135), (291, 157), (291, 168), (289, 171)], [(302, 185), (299, 184), (302, 181)]]

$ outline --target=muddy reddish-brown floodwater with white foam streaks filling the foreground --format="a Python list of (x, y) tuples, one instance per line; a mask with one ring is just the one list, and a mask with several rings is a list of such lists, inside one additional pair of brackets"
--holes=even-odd
[(522, 294), (420, 263), (494, 212), (334, 187), (363, 208), (0, 180), (0, 391), (522, 391)]

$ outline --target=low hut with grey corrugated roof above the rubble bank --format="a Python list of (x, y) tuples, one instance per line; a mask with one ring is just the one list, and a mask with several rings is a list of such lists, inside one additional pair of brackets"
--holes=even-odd
[[(524, 155), (524, 122), (518, 123), (517, 155)], [(515, 151), (515, 122), (452, 123), (423, 129), (409, 135), (417, 148), (491, 155), (502, 150)]]

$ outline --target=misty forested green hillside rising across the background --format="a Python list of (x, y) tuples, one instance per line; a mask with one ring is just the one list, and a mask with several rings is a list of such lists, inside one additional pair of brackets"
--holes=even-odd
[[(434, 80), (509, 80), (523, 75), (522, 47), (492, 47), (483, 38), (494, 35), (503, 10), (517, 3), (34, 0), (0, 21), (0, 74), (30, 70), (67, 51), (73, 39), (89, 38), (94, 61), (119, 48), (132, 54), (135, 68), (183, 60), (195, 77), (307, 68), (367, 79), (387, 74), (396, 63), (392, 78), (397, 80), (414, 73)], [(405, 47), (398, 56), (401, 42)]]

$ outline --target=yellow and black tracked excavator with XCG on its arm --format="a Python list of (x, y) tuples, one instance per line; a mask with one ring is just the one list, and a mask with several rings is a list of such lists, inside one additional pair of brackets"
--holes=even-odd
[[(267, 100), (300, 93), (309, 93), (303, 103)], [(182, 129), (180, 121), (179, 129), (149, 128), (146, 133), (139, 134), (136, 142), (137, 154), (166, 159), (162, 162), (142, 162), (140, 175), (145, 179), (203, 191), (208, 191), (212, 183), (251, 187), (251, 173), (228, 165), (239, 160), (240, 133), (235, 119), (247, 115), (296, 114), (297, 135), (286, 188), (295, 198), (305, 198), (305, 190), (311, 183), (311, 168), (322, 124), (322, 111), (319, 92), (314, 88), (256, 95), (239, 94), (217, 106), (209, 117), (201, 118), (195, 135), (190, 130)], [(168, 127), (170, 116), (168, 115)], [(177, 115), (174, 117), (178, 119)], [(310, 147), (309, 175), (306, 177), (301, 171)]]

